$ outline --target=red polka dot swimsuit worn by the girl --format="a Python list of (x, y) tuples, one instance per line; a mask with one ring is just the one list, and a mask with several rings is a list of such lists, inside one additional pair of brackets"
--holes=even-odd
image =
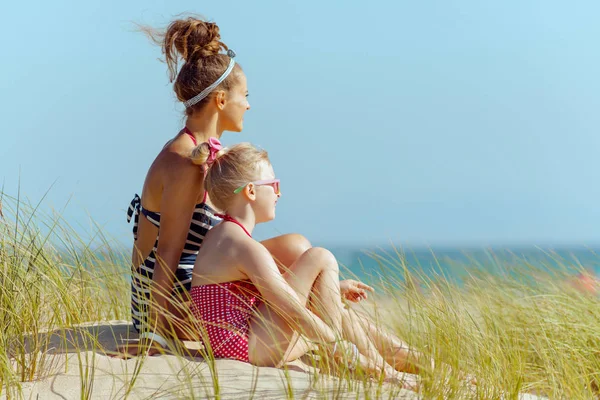
[[(238, 224), (229, 215), (219, 215), (223, 222)], [(194, 286), (190, 291), (191, 310), (200, 322), (204, 345), (215, 358), (248, 360), (250, 317), (260, 304), (258, 289), (249, 280)], [(208, 341), (208, 343), (207, 343)]]

